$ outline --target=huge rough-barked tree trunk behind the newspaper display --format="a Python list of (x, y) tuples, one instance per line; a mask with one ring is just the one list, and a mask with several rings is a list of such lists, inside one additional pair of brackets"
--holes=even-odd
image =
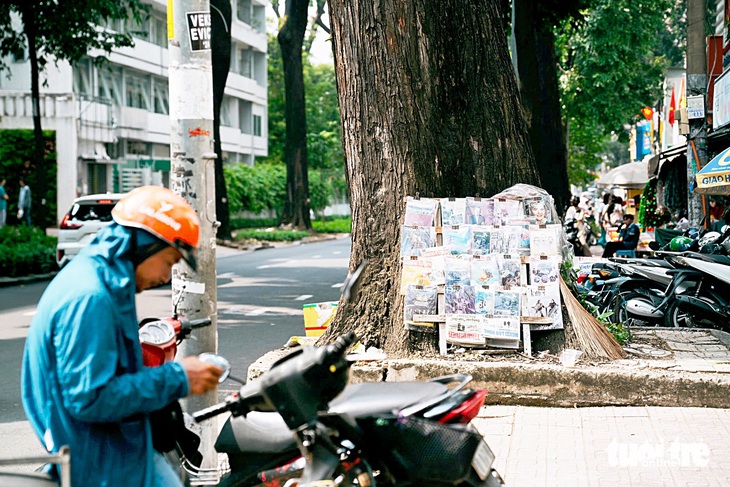
[(350, 268), (369, 266), (361, 299), (341, 303), (324, 339), (355, 331), (397, 355), (403, 327), (405, 197), (493, 194), (539, 185), (498, 0), (329, 0), (352, 206)]

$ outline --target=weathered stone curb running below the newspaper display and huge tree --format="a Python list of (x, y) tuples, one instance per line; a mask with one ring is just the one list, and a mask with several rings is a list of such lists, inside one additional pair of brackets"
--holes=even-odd
[[(277, 349), (259, 358), (249, 367), (248, 380), (291, 350)], [(730, 374), (686, 370), (393, 359), (354, 364), (350, 383), (426, 381), (456, 372), (473, 377), (470, 387), (489, 391), (486, 404), (730, 408)]]

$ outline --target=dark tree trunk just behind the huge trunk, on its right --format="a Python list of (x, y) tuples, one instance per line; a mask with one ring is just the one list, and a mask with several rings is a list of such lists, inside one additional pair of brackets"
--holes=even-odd
[(562, 212), (570, 201), (570, 186), (552, 29), (535, 11), (534, 2), (517, 2), (515, 42), (522, 106), (543, 189), (555, 198), (555, 207)]

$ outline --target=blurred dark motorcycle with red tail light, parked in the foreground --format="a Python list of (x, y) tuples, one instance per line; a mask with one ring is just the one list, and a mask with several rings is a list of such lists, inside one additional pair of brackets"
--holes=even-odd
[[(216, 442), (219, 485), (498, 486), (494, 455), (469, 422), (486, 391), (455, 374), (429, 382), (345, 387), (356, 337), (303, 347), (196, 422), (231, 413)], [(447, 385), (454, 383), (454, 388)], [(301, 458), (306, 459), (306, 461)], [(185, 461), (188, 472), (198, 475)], [(205, 472), (210, 474), (210, 472)], [(316, 484), (320, 485), (320, 484)]]

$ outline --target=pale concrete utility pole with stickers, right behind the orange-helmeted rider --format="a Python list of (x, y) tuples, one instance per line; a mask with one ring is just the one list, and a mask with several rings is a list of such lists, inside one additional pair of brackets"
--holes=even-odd
[[(215, 152), (213, 150), (213, 74), (208, 0), (169, 0), (167, 10), (170, 54), (170, 155), (172, 190), (182, 195), (200, 217), (198, 270), (187, 264), (172, 272), (173, 306), (189, 318), (210, 317), (213, 324), (185, 340), (180, 357), (217, 352), (217, 289), (215, 273)], [(218, 401), (217, 390), (183, 400), (183, 409), (195, 411)], [(214, 421), (202, 426), (202, 468), (217, 472), (213, 445), (218, 431)]]

